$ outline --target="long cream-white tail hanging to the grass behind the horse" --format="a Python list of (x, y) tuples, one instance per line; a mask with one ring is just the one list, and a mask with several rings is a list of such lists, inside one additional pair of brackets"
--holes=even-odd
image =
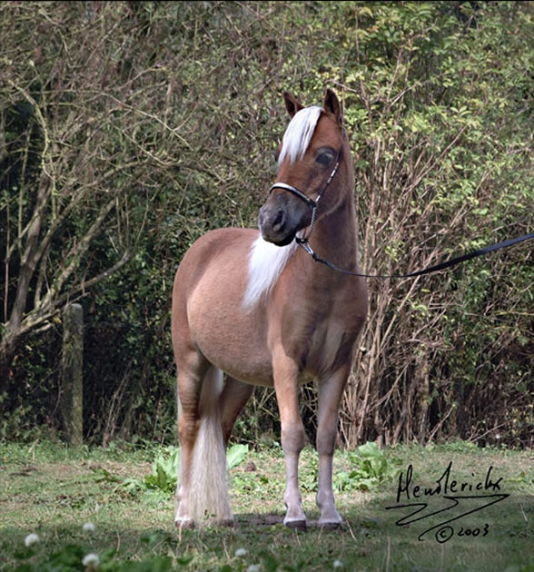
[[(226, 479), (226, 447), (218, 406), (222, 390), (223, 371), (212, 367), (203, 379), (200, 427), (193, 447), (191, 486), (186, 493), (188, 516), (201, 524), (210, 520), (228, 522), (233, 519)], [(181, 467), (178, 468), (179, 480), (180, 475)]]

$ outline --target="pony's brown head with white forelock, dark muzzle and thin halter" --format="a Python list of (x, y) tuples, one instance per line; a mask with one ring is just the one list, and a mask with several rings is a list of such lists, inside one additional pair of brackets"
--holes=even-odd
[(278, 150), (277, 182), (259, 217), (263, 239), (278, 246), (314, 222), (317, 202), (337, 173), (343, 143), (341, 107), (331, 90), (322, 108), (304, 107), (288, 93), (284, 99), (292, 120)]

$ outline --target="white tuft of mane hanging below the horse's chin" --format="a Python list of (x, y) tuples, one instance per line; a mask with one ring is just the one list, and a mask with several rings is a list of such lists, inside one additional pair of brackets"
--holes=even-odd
[(272, 242), (264, 241), (262, 236), (252, 242), (249, 280), (243, 299), (245, 310), (252, 310), (262, 296), (272, 289), (296, 248), (295, 241), (287, 246), (276, 246)]

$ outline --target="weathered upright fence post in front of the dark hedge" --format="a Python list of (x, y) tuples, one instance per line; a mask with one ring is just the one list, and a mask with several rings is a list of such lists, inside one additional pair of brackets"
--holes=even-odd
[(71, 445), (84, 440), (84, 309), (68, 304), (63, 319), (63, 399), (66, 438)]

